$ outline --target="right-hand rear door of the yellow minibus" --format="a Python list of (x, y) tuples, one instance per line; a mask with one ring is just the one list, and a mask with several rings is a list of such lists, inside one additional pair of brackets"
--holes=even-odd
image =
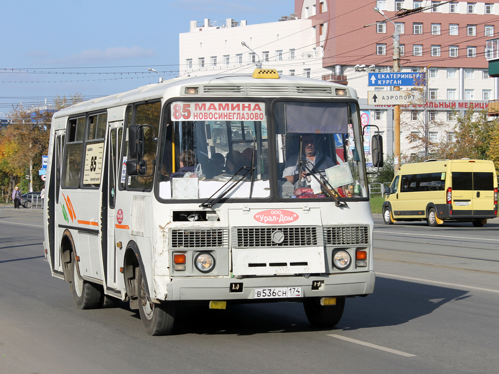
[(473, 163), (473, 215), (494, 210), (494, 172), (489, 163)]

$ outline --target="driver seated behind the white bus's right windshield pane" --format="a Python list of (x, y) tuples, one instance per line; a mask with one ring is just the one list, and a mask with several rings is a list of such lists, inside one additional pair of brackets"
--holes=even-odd
[[(282, 173), (282, 178), (287, 179), (292, 184), (296, 183), (298, 180), (299, 161), (298, 154), (288, 158), (288, 162)], [(336, 165), (327, 155), (320, 154), (317, 151), (313, 134), (306, 134), (302, 137), (301, 161), (303, 161), (303, 164), (306, 165), (308, 169), (314, 168), (316, 171), (324, 170)], [(308, 170), (302, 168), (301, 178), (305, 178), (307, 173)]]

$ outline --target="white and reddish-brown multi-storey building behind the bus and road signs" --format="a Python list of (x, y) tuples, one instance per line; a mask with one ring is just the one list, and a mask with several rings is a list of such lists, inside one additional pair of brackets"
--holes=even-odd
[(456, 110), (499, 99), (499, 78), (489, 77), (486, 59), (486, 40), (499, 32), (499, 0), (295, 0), (294, 13), (276, 22), (191, 21), (180, 34), (180, 75), (250, 72), (261, 62), (280, 74), (347, 84), (390, 154), (393, 108), (368, 105), (367, 92), (392, 89), (369, 87), (368, 73), (392, 70), (395, 29), (400, 70), (427, 73), (423, 101), (403, 110), (401, 125), (402, 152), (421, 156), (411, 137), (452, 142)]

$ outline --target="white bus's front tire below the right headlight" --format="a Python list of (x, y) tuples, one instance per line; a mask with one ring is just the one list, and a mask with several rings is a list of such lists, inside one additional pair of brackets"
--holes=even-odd
[(345, 298), (336, 298), (336, 305), (320, 305), (320, 297), (307, 297), (303, 300), (303, 309), (308, 322), (313, 327), (333, 327), (341, 320)]

